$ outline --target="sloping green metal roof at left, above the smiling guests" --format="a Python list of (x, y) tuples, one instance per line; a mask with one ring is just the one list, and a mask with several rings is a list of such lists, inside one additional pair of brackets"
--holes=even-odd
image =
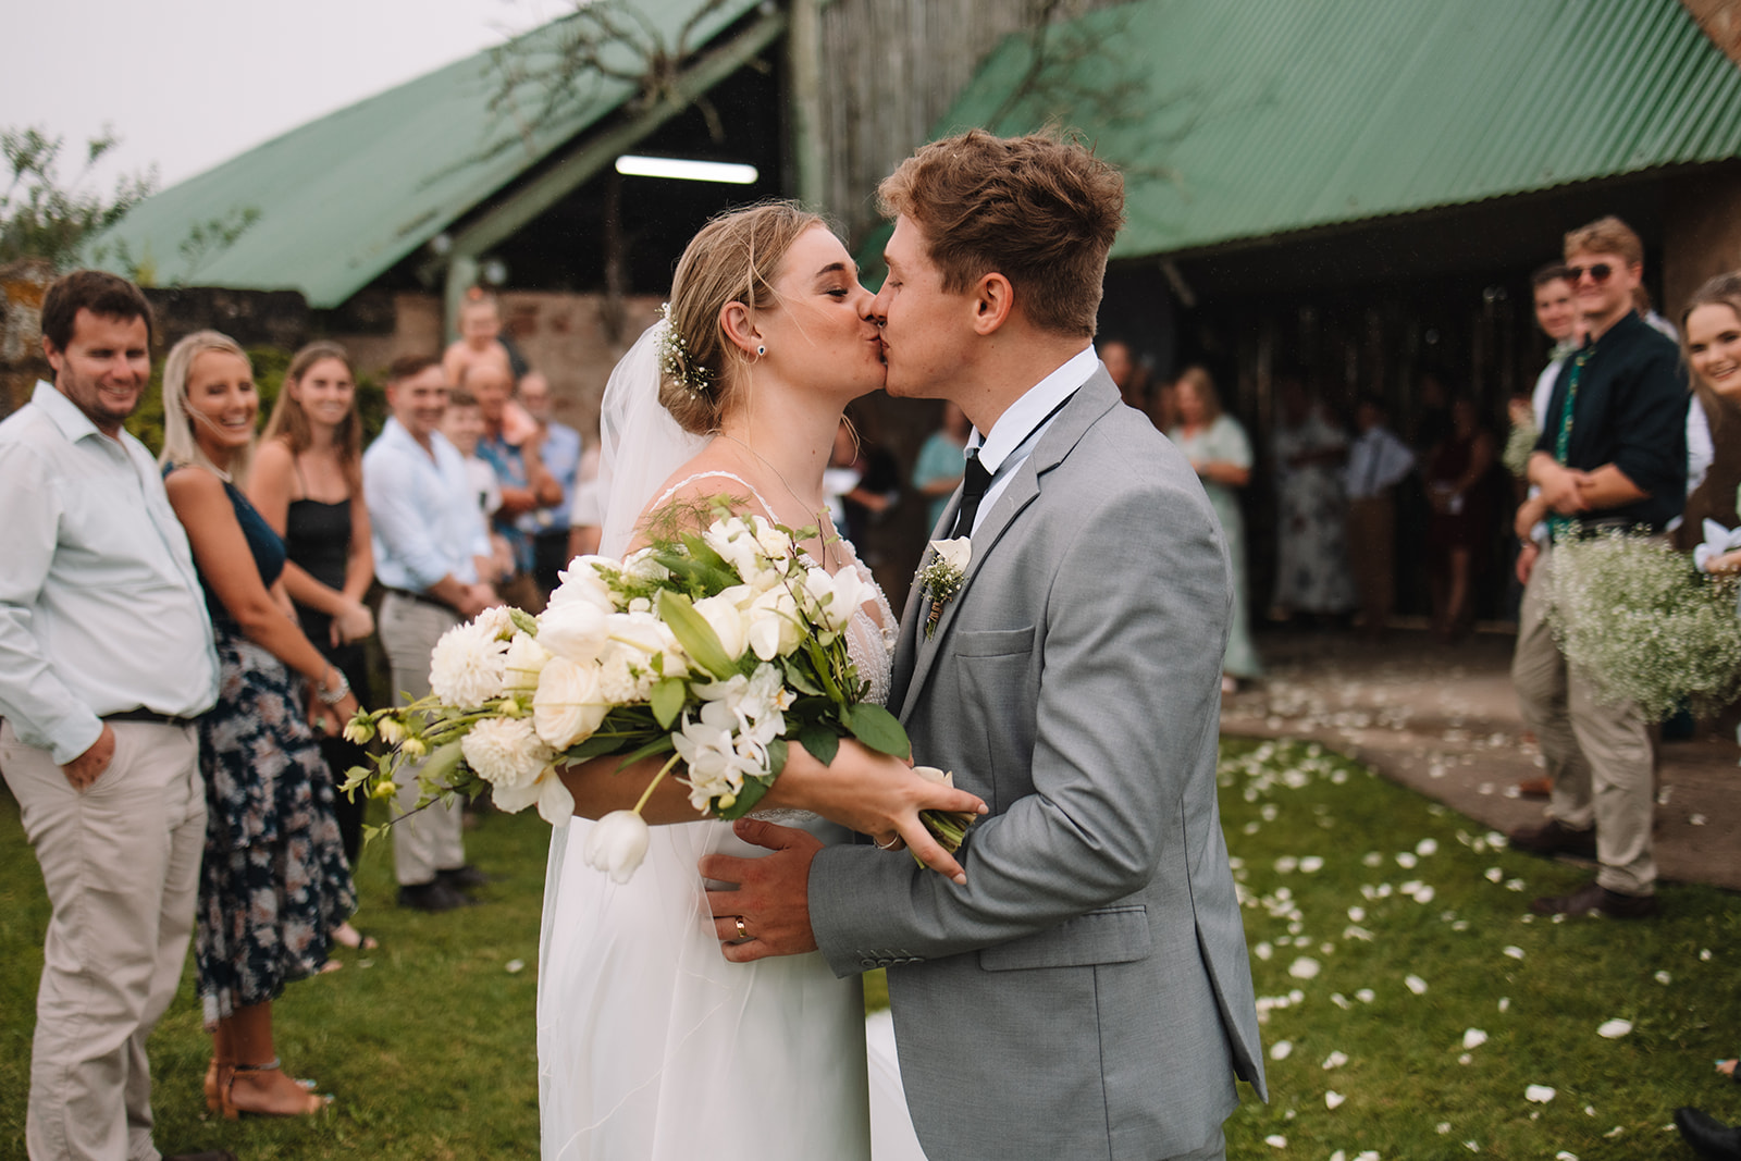
[[(726, 0), (691, 33), (705, 45), (756, 7)], [(635, 0), (648, 26), (670, 45), (696, 0)], [(548, 59), (561, 21), (517, 38), (505, 52)], [(641, 64), (618, 45), (620, 66)], [(552, 150), (634, 96), (625, 80), (594, 75), (583, 99), (548, 120), (543, 89), (524, 82), (519, 117), (491, 110), (500, 73), (491, 52), (359, 101), (292, 129), (139, 204), (92, 252), (122, 242), (160, 284), (296, 289), (313, 306), (338, 306), (456, 218), (501, 190)], [(198, 223), (244, 209), (259, 212), (232, 245), (190, 263), (181, 252)]]

